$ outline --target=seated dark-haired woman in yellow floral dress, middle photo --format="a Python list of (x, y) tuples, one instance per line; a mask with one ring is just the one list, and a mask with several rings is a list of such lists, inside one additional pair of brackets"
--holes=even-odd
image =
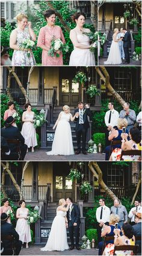
[[(122, 133), (122, 148), (114, 149), (113, 153), (111, 154), (110, 161), (119, 161), (122, 150), (132, 150), (132, 149), (139, 149), (141, 150), (141, 134), (138, 128), (133, 127), (129, 131), (130, 140), (128, 140), (128, 134)], [(141, 160), (140, 156), (123, 156), (125, 161), (138, 161)]]

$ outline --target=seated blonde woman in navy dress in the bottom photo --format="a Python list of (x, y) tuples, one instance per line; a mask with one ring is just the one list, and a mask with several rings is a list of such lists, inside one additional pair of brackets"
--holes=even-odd
[[(119, 223), (119, 215), (117, 214), (111, 214), (110, 215), (110, 222), (109, 222), (109, 226), (106, 226), (105, 224), (103, 224), (103, 231), (101, 233), (101, 237), (111, 237), (112, 235), (114, 236), (114, 228), (115, 228), (115, 224), (116, 223)], [(118, 226), (118, 228), (120, 229), (120, 226)], [(109, 241), (106, 241), (106, 245), (108, 243), (114, 243), (114, 240), (109, 240)], [(103, 248), (103, 244), (104, 242), (103, 241), (100, 241), (99, 242), (99, 254), (98, 255), (102, 255), (102, 248)]]

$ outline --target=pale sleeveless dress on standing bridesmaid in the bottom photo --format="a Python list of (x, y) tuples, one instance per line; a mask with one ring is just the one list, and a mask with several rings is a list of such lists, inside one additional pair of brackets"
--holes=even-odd
[(23, 216), (23, 218), (18, 218), (16, 223), (16, 231), (19, 234), (19, 240), (22, 241), (22, 243), (29, 243), (31, 241), (31, 231), (27, 220), (24, 218), (28, 216), (27, 209), (19, 209), (19, 215)]

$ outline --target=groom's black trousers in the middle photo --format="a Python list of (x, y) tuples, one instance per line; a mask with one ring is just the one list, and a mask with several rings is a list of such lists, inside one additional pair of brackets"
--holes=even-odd
[(76, 130), (76, 139), (77, 139), (78, 151), (81, 151), (81, 136), (82, 136), (82, 150), (85, 151), (87, 129), (84, 128), (83, 124), (79, 125), (78, 130)]

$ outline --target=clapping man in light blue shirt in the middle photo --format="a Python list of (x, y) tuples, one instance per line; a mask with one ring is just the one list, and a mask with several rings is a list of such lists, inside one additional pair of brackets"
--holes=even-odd
[(134, 122), (136, 119), (136, 114), (134, 110), (131, 110), (130, 104), (128, 102), (125, 102), (123, 105), (123, 110), (120, 111), (120, 118), (125, 118), (128, 121), (128, 131), (134, 126)]

